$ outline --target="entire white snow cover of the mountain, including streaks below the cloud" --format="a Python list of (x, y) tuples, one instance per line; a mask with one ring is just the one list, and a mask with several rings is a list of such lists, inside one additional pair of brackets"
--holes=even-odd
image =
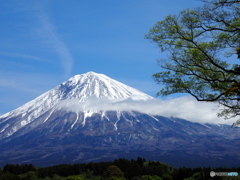
[[(0, 116), (0, 139), (11, 136), (46, 112), (49, 112), (48, 116), (32, 128), (46, 122), (53, 112), (61, 109), (76, 113), (82, 111), (86, 119), (93, 112), (106, 110), (116, 102), (152, 99), (154, 98), (103, 74), (88, 72), (75, 75), (36, 99)], [(116, 104), (114, 108), (117, 109)], [(124, 104), (121, 107), (123, 109)]]

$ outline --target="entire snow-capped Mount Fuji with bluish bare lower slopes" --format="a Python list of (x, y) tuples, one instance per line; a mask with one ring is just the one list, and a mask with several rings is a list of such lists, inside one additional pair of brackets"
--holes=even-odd
[(154, 102), (103, 74), (76, 75), (0, 116), (0, 166), (138, 156), (173, 166), (239, 165), (238, 130), (148, 113)]

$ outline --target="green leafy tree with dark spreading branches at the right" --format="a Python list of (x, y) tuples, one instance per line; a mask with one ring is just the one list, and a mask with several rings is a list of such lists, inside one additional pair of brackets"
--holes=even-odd
[[(202, 0), (157, 22), (146, 35), (165, 59), (153, 75), (164, 87), (157, 95), (188, 93), (218, 102), (226, 119), (240, 115), (240, 0)], [(239, 124), (238, 120), (235, 125)]]

